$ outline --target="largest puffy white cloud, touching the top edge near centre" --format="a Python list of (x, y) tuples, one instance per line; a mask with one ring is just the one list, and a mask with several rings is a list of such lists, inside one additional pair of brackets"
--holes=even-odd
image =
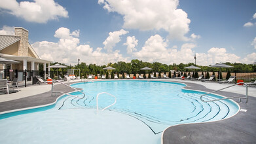
[[(182, 9), (177, 9), (178, 0), (99, 0), (99, 4), (109, 12), (118, 12), (124, 16), (124, 26), (129, 29), (168, 31), (170, 39), (188, 41), (191, 20)], [(125, 9), (124, 9), (125, 8)]]

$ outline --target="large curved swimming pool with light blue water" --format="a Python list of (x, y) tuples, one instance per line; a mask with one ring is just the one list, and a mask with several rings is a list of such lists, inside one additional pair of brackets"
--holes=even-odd
[[(185, 84), (174, 82), (101, 81), (71, 86), (82, 88), (86, 97), (65, 96), (47, 111), (1, 119), (0, 138), (6, 141), (0, 139), (0, 143), (21, 139), (47, 143), (102, 143), (100, 139), (103, 143), (160, 143), (160, 133), (168, 126), (221, 120), (239, 109), (229, 99), (203, 103), (202, 92), (183, 90)], [(96, 96), (100, 92), (113, 94), (117, 103), (97, 114)], [(219, 96), (205, 99), (215, 98)], [(108, 95), (100, 96), (100, 108), (113, 101)], [(14, 135), (19, 135), (16, 140)], [(13, 137), (8, 141), (6, 137), (10, 136)]]

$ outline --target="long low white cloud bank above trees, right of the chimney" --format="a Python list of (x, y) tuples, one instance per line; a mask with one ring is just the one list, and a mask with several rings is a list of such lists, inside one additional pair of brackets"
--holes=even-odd
[(40, 58), (61, 62), (69, 65), (77, 64), (77, 58), (81, 62), (106, 65), (109, 62), (128, 62), (123, 58), (120, 50), (111, 53), (101, 52), (102, 48), (92, 48), (90, 45), (80, 45), (79, 30), (70, 32), (66, 27), (60, 27), (55, 31), (54, 37), (59, 38), (58, 43), (49, 41), (38, 41), (32, 44)]

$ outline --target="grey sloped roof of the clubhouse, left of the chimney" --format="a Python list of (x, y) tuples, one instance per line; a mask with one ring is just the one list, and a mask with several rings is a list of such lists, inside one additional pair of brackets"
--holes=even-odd
[(0, 50), (10, 46), (17, 41), (20, 41), (20, 37), (16, 37), (14, 35), (0, 35)]

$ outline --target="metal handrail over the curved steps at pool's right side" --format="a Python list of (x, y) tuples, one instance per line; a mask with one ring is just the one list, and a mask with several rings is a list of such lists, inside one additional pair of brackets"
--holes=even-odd
[(248, 86), (247, 86), (247, 84), (245, 83), (245, 82), (239, 82), (239, 83), (236, 83), (236, 84), (233, 84), (233, 85), (231, 85), (231, 86), (227, 86), (227, 87), (225, 87), (225, 88), (221, 88), (221, 89), (219, 89), (219, 90), (214, 90), (214, 91), (212, 91), (212, 92), (208, 92), (207, 94), (203, 94), (202, 96), (200, 96), (200, 99), (201, 99), (201, 101), (203, 101), (203, 102), (210, 102), (210, 101), (204, 101), (202, 98), (203, 98), (203, 96), (206, 96), (206, 95), (208, 95), (208, 94), (212, 94), (213, 92), (218, 92), (218, 91), (220, 91), (220, 90), (224, 90), (224, 89), (226, 89), (226, 88), (230, 88), (230, 87), (232, 87), (232, 86), (236, 86), (236, 85), (238, 85), (238, 84), (244, 84), (245, 86), (246, 86), (246, 97), (235, 97), (235, 96), (233, 96), (233, 97), (230, 97), (230, 98), (222, 98), (222, 99), (213, 99), (213, 100), (210, 100), (210, 101), (220, 101), (220, 100), (223, 100), (223, 99), (232, 99), (232, 98), (239, 98), (239, 102), (241, 102), (241, 99), (242, 98), (244, 98), (244, 99), (246, 99), (246, 103), (248, 102)]

